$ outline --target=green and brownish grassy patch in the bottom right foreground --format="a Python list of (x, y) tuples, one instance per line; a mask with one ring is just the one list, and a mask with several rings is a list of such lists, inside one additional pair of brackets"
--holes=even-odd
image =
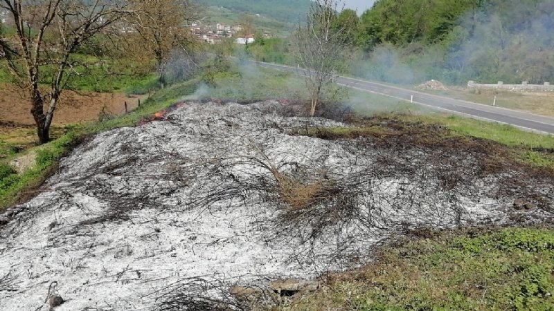
[(276, 310), (552, 310), (554, 232), (443, 232), (393, 243), (378, 261)]

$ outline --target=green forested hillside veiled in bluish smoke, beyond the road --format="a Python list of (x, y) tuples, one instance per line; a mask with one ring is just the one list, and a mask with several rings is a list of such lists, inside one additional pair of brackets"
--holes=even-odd
[[(359, 21), (366, 77), (554, 82), (553, 0), (378, 0)], [(361, 69), (359, 69), (361, 68)]]

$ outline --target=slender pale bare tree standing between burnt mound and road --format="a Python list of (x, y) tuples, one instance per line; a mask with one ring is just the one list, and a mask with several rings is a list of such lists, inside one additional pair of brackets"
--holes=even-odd
[[(305, 84), (310, 92), (310, 115), (318, 108), (325, 88), (343, 66), (342, 55), (348, 50), (349, 27), (337, 21), (339, 1), (316, 0), (307, 15), (305, 26), (295, 32), (298, 65), (306, 70)], [(345, 24), (346, 25), (346, 24)]]

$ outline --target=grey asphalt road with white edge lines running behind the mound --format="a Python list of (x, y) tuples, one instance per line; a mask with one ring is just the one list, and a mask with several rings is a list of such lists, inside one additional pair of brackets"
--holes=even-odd
[[(305, 73), (302, 69), (289, 66), (263, 62), (256, 62), (256, 64), (268, 68), (291, 71), (298, 74)], [(522, 111), (504, 109), (496, 106), (476, 104), (474, 102), (466, 102), (464, 100), (454, 100), (449, 97), (431, 95), (406, 88), (388, 86), (385, 84), (369, 82), (361, 79), (353, 79), (350, 77), (338, 77), (336, 82), (338, 84), (357, 88), (361, 91), (369, 93), (395, 97), (399, 100), (413, 101), (414, 104), (429, 106), (433, 109), (448, 111), (458, 115), (465, 115), (479, 120), (510, 124), (526, 131), (554, 135), (553, 117), (544, 117), (533, 113), (525, 113)]]

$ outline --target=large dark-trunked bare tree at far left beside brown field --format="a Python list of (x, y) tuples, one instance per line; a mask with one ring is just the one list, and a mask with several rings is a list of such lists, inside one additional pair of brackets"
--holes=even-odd
[(1, 0), (0, 8), (11, 15), (16, 30), (14, 39), (2, 39), (0, 61), (30, 95), (30, 113), (44, 144), (50, 140), (62, 91), (80, 75), (75, 68), (83, 64), (75, 53), (127, 14), (127, 4), (123, 0)]

